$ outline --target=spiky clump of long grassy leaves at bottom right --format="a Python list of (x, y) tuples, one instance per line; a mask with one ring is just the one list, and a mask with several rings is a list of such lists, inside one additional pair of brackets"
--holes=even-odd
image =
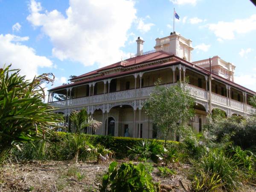
[[(214, 148), (201, 157), (194, 164), (195, 166), (195, 184), (198, 189), (223, 186), (228, 191), (236, 191), (241, 186), (242, 172), (237, 169), (237, 164), (230, 157), (225, 155), (224, 150)], [(200, 191), (200, 190), (199, 190)]]

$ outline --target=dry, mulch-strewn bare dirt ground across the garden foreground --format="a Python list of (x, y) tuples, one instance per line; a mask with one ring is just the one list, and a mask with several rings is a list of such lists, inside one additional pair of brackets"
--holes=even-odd
[[(118, 161), (122, 163), (123, 161)], [(98, 192), (102, 175), (108, 171), (108, 163), (69, 161), (27, 162), (6, 164), (0, 167), (1, 192)], [(155, 182), (161, 184), (163, 192), (189, 191), (186, 178), (191, 167), (182, 164), (174, 170), (176, 175), (162, 178), (157, 167), (151, 173)], [(252, 186), (243, 191), (256, 191)]]

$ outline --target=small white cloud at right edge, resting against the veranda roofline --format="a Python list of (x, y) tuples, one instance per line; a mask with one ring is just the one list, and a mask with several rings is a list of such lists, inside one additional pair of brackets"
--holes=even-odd
[(256, 91), (256, 75), (235, 75), (234, 79), (237, 84)]

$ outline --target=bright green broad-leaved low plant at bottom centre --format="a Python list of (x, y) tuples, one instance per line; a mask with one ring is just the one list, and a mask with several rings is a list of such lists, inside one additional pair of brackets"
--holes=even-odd
[(108, 173), (102, 177), (101, 192), (110, 187), (111, 191), (122, 192), (155, 192), (157, 187), (151, 175), (145, 171), (143, 164), (122, 163), (117, 168), (117, 162), (109, 165)]

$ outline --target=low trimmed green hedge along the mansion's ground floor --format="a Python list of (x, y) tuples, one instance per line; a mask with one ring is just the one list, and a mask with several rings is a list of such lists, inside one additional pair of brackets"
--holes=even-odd
[[(55, 132), (52, 137), (52, 142), (57, 144), (64, 137), (67, 137), (68, 134), (66, 132)], [(113, 137), (113, 136), (104, 136), (104, 135), (89, 135), (89, 134), (81, 134), (85, 140), (90, 140), (93, 144), (101, 144), (106, 148), (110, 148), (115, 152), (117, 158), (127, 157), (128, 147), (132, 147), (134, 145), (139, 144), (142, 140), (150, 140), (154, 139), (143, 139), (143, 138), (132, 138), (132, 137)], [(163, 145), (164, 140), (155, 140), (157, 143)], [(167, 141), (168, 147), (179, 148), (181, 145), (177, 141)]]

